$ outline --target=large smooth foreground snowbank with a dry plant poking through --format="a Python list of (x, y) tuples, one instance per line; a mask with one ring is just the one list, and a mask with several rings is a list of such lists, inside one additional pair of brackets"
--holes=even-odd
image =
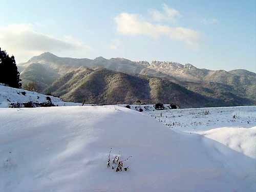
[[(217, 132), (175, 132), (119, 106), (0, 109), (0, 122), (0, 191), (256, 190), (253, 142), (241, 153)], [(256, 140), (246, 130), (228, 137)], [(111, 147), (133, 156), (129, 172), (106, 167)]]

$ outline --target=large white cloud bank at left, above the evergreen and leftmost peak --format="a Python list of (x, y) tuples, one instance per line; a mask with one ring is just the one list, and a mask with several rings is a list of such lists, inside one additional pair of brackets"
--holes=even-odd
[(52, 37), (34, 30), (31, 24), (8, 25), (0, 28), (0, 45), (16, 62), (23, 62), (43, 52), (78, 55), (90, 50), (79, 40), (71, 36)]

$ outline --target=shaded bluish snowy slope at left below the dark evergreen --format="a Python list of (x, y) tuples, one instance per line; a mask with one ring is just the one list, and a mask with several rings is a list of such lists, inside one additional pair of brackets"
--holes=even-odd
[(46, 97), (50, 97), (55, 105), (81, 105), (81, 103), (63, 102), (60, 98), (40, 94), (37, 92), (27, 91), (23, 89), (15, 89), (0, 84), (0, 108), (8, 108), (12, 102), (47, 102)]

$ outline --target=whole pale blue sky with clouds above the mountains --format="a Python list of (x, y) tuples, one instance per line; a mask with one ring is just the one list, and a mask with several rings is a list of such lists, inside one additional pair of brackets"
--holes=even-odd
[(256, 72), (256, 0), (0, 0), (0, 18), (17, 63), (51, 52)]

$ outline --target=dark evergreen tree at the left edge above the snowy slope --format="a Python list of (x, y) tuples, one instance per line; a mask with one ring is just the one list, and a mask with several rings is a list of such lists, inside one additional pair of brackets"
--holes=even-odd
[(15, 58), (2, 51), (0, 48), (0, 83), (8, 84), (13, 88), (21, 88), (19, 72), (16, 66)]

